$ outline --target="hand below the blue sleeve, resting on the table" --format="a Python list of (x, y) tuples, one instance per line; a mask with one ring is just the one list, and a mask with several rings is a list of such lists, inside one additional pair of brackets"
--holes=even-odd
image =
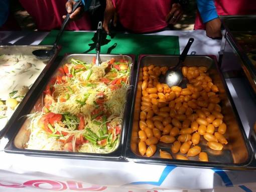
[(216, 18), (214, 20), (211, 20), (206, 23), (206, 35), (209, 38), (221, 38), (221, 21), (219, 18)]

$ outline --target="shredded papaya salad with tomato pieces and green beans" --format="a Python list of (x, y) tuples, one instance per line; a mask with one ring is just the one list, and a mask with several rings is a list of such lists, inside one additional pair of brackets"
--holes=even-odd
[(120, 131), (131, 63), (100, 66), (72, 58), (44, 90), (42, 111), (29, 115), (27, 149), (110, 153)]

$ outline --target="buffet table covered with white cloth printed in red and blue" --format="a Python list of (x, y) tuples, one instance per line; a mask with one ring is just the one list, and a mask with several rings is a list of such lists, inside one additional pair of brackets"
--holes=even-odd
[[(46, 32), (0, 32), (2, 45), (38, 45)], [(216, 55), (220, 40), (204, 31), (165, 31), (154, 35), (179, 36), (180, 52), (195, 39), (189, 54)], [(250, 136), (256, 104), (241, 78), (226, 79), (246, 135)], [(49, 158), (4, 152), (0, 141), (0, 191), (255, 191), (255, 171), (224, 171), (134, 162)], [(228, 187), (228, 189), (226, 188)], [(213, 190), (214, 188), (214, 190)], [(183, 190), (186, 189), (186, 190)], [(200, 190), (202, 189), (202, 190)]]

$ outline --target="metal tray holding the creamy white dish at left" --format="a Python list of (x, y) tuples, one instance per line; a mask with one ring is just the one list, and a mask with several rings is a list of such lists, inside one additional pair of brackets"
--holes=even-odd
[[(52, 46), (0, 46), (0, 55), (2, 54), (23, 54), (23, 55), (33, 55), (32, 52), (37, 49), (47, 49), (50, 50), (52, 49)], [(46, 63), (47, 65), (43, 69), (42, 73), (39, 75), (37, 80), (34, 82), (32, 87), (30, 88), (29, 92), (26, 94), (26, 96), (23, 98), (22, 102), (19, 104), (18, 108), (15, 110), (14, 114), (12, 117), (9, 119), (8, 123), (6, 126), (0, 130), (0, 139), (5, 135), (5, 133), (8, 131), (10, 128), (11, 124), (15, 121), (15, 119), (18, 118), (19, 113), (21, 112), (22, 108), (26, 105), (28, 99), (31, 97), (32, 92), (35, 90), (39, 82), (42, 80), (44, 77), (45, 73), (49, 70), (51, 65), (53, 64), (54, 60), (56, 59), (58, 53), (60, 51), (60, 47), (58, 47), (53, 55), (53, 57)], [(1, 80), (0, 80), (1, 83)]]

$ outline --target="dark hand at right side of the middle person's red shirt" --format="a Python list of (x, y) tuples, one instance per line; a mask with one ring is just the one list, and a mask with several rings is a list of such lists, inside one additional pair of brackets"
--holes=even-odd
[(175, 25), (183, 16), (183, 9), (180, 4), (173, 4), (170, 13), (166, 16), (165, 21), (168, 24)]

